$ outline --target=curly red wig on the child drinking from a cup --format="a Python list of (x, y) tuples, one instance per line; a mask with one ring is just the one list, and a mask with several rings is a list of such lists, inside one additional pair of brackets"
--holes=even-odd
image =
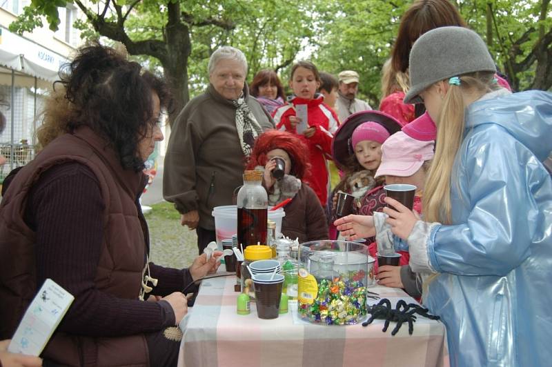
[(297, 135), (286, 131), (266, 130), (255, 140), (246, 170), (254, 170), (256, 166), (264, 167), (266, 154), (274, 149), (282, 149), (288, 153), (291, 159), (290, 175), (303, 179), (311, 169), (311, 164), (308, 163), (308, 148)]

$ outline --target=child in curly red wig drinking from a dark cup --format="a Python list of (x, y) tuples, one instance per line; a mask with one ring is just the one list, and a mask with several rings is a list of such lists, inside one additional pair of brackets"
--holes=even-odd
[[(284, 177), (275, 179), (275, 158), (284, 159)], [(302, 179), (308, 174), (308, 148), (290, 132), (267, 130), (257, 137), (246, 170), (264, 171), (263, 186), (268, 192), (268, 205), (285, 199), (286, 216), (282, 220), (282, 234), (299, 242), (328, 239), (328, 224), (324, 209), (314, 190)]]

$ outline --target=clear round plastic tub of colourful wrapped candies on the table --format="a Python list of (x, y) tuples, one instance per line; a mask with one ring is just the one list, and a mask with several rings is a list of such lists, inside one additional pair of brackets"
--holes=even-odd
[(298, 312), (328, 325), (357, 324), (366, 317), (368, 247), (351, 241), (312, 241), (299, 246)]

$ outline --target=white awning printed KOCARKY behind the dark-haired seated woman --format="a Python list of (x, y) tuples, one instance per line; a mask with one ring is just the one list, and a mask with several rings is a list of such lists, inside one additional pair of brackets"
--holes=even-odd
[(25, 37), (0, 27), (0, 64), (46, 81), (58, 78), (59, 67), (68, 59)]

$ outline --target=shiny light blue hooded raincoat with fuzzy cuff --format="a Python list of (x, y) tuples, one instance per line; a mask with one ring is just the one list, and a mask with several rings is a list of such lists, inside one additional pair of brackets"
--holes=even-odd
[(435, 226), (424, 304), (451, 366), (552, 366), (552, 95), (472, 103), (453, 169), (453, 225)]

